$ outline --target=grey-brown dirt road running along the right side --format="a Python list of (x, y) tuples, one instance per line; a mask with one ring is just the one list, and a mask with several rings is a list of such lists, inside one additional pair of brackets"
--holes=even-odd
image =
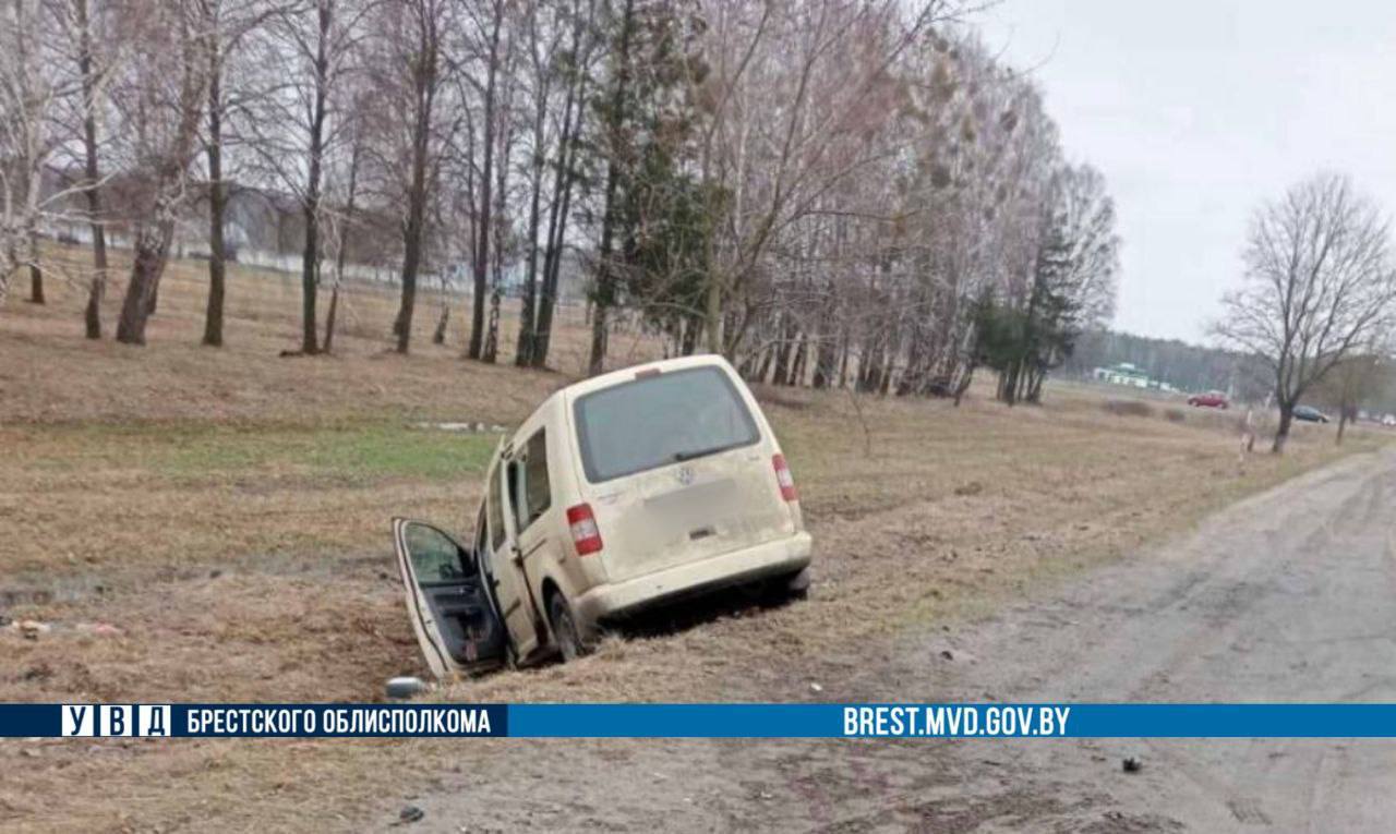
[[(794, 658), (782, 690), (822, 675), (814, 700), (1392, 702), (1393, 520), (1396, 453), (1353, 457), (993, 616)], [(1376, 831), (1396, 819), (1396, 743), (1382, 741), (542, 742), (496, 753), (472, 763), (462, 752), (438, 792), (409, 798), (426, 810), (412, 830)], [(1143, 770), (1122, 773), (1125, 756)]]

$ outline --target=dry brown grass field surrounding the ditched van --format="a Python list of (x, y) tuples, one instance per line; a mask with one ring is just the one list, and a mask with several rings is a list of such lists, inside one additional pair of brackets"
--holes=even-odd
[[(396, 356), (394, 298), (370, 289), (349, 293), (335, 356), (281, 358), (296, 346), (299, 287), (242, 269), (228, 346), (211, 350), (198, 347), (202, 287), (200, 264), (172, 266), (147, 347), (82, 339), (81, 287), (57, 278), (49, 305), (15, 291), (0, 310), (0, 614), (50, 626), (38, 639), (0, 629), (0, 700), (376, 700), (387, 676), (426, 674), (388, 519), (468, 534), (498, 438), (489, 427), (521, 420), (584, 358), (571, 312), (557, 372), (465, 361), (463, 310), (448, 343), (430, 344), (433, 297), (419, 303), (415, 353)], [(641, 336), (613, 346), (618, 364), (653, 354)], [(1356, 431), (1336, 449), (1332, 427), (1298, 425), (1287, 456), (1242, 463), (1231, 417), (1180, 420), (1157, 403), (1135, 416), (1072, 386), (1018, 409), (977, 391), (959, 409), (758, 397), (815, 536), (808, 602), (722, 609), (431, 697), (856, 697), (860, 657), (898, 633), (1143, 552), (1209, 509), (1388, 439)], [(436, 421), (487, 430), (420, 425)], [(0, 828), (357, 830), (519, 748), (0, 742)]]

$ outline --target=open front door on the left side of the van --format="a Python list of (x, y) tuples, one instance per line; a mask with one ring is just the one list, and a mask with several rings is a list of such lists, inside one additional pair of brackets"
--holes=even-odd
[(508, 636), (473, 551), (441, 530), (392, 519), (408, 616), (431, 672), (450, 681), (497, 668)]

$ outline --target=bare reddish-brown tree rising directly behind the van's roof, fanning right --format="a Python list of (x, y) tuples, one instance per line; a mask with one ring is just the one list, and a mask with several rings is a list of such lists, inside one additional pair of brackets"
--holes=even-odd
[(859, 139), (893, 112), (889, 71), (956, 10), (946, 0), (704, 4), (709, 49), (691, 74), (709, 112), (698, 166), (704, 192), (722, 201), (708, 254), (711, 351), (733, 353), (747, 335), (758, 311), (747, 287), (780, 236), (888, 152)]

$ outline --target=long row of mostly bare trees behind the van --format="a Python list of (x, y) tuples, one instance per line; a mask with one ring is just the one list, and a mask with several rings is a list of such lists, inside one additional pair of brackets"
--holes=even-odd
[(239, 187), (303, 215), (307, 354), (366, 236), (399, 265), (396, 350), (426, 276), (468, 265), (466, 354), (497, 361), (517, 285), (532, 367), (564, 264), (592, 371), (642, 328), (773, 384), (958, 396), (988, 365), (1032, 400), (1111, 312), (1104, 181), (959, 0), (3, 3), (0, 280), (31, 266), (42, 300), (38, 233), (78, 205), (91, 338), (106, 233), (134, 250), (116, 338), (140, 344), (197, 205), (223, 342)]

